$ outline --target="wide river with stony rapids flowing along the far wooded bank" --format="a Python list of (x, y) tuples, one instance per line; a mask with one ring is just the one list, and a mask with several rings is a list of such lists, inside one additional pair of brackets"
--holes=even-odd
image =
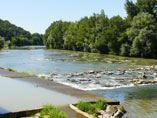
[[(157, 65), (157, 60), (33, 46), (0, 52), (0, 67), (44, 75), (62, 84), (117, 99), (131, 118), (157, 117), (157, 86), (130, 82), (131, 78), (143, 73), (137, 68), (151, 65)], [(156, 77), (152, 75), (157, 72), (156, 67), (144, 72), (148, 76), (144, 81)]]

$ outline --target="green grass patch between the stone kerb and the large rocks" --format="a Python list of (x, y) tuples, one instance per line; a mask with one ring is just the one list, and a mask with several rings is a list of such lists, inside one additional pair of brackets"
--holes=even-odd
[(80, 110), (87, 112), (88, 114), (92, 114), (96, 118), (98, 118), (98, 115), (96, 114), (96, 110), (103, 109), (104, 105), (106, 104), (105, 100), (98, 100), (96, 103), (90, 103), (90, 102), (79, 102), (76, 107)]

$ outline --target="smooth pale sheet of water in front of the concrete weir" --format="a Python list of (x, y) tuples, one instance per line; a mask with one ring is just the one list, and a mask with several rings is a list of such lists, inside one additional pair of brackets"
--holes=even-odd
[(61, 106), (79, 101), (68, 95), (1, 76), (0, 93), (0, 107), (4, 109), (0, 113), (39, 108), (44, 104)]

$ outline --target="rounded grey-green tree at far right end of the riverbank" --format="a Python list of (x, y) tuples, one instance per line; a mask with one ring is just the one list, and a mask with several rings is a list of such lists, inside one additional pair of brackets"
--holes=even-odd
[(127, 34), (132, 41), (130, 56), (157, 58), (157, 23), (153, 15), (145, 13), (134, 17)]

